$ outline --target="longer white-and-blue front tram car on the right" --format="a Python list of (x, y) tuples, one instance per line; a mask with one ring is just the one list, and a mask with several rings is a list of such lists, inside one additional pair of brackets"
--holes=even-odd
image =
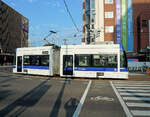
[(119, 44), (63, 45), (60, 76), (128, 79), (125, 51)]

